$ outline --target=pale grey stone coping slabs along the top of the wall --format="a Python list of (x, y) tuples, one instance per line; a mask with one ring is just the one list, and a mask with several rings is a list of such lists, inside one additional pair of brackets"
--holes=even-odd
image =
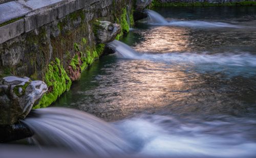
[(0, 44), (103, 0), (18, 0), (0, 4)]

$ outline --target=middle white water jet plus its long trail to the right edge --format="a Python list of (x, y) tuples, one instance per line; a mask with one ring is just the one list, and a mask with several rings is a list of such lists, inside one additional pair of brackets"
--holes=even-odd
[(135, 60), (150, 60), (165, 62), (169, 64), (218, 64), (218, 65), (230, 65), (230, 66), (250, 66), (256, 67), (256, 56), (248, 54), (246, 52), (234, 54), (196, 54), (196, 53), (169, 53), (169, 54), (140, 54), (132, 49), (130, 46), (120, 41), (114, 40), (108, 43), (112, 46), (116, 52), (118, 52), (123, 58), (135, 59)]

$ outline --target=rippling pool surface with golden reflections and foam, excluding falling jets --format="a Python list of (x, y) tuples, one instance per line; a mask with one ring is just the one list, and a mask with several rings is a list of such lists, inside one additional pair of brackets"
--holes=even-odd
[(155, 11), (166, 23), (122, 39), (138, 54), (102, 57), (54, 106), (113, 122), (136, 153), (256, 156), (256, 8)]

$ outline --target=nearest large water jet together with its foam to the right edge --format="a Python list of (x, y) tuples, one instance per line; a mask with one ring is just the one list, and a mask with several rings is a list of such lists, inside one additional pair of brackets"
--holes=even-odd
[(140, 115), (110, 124), (77, 110), (45, 108), (32, 111), (23, 122), (35, 132), (32, 139), (45, 151), (46, 145), (100, 157), (256, 155), (256, 120), (247, 118)]

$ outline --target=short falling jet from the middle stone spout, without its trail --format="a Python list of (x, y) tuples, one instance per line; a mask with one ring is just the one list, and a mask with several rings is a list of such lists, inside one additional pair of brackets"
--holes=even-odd
[(123, 42), (114, 40), (109, 42), (108, 45), (115, 49), (115, 51), (122, 55), (124, 58), (136, 59), (140, 56), (138, 52)]

